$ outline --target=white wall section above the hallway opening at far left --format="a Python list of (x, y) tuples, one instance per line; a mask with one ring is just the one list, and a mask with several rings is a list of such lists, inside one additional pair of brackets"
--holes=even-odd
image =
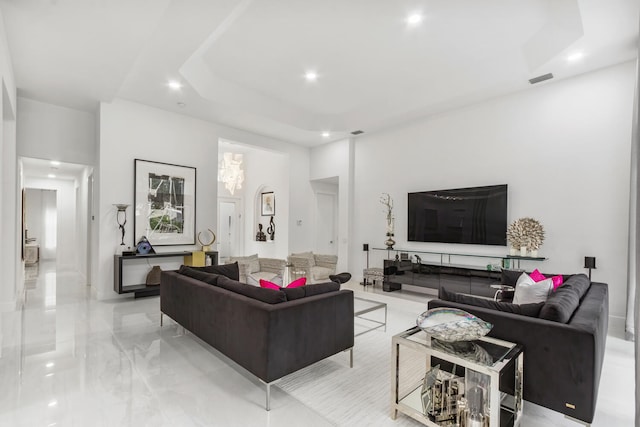
[(95, 114), (18, 98), (18, 155), (93, 166)]

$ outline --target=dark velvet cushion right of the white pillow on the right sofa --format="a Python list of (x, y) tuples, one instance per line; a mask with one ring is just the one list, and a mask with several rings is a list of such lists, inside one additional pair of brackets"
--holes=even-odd
[(549, 295), (542, 310), (540, 310), (540, 318), (568, 323), (589, 286), (591, 286), (591, 282), (586, 275), (576, 274), (571, 276), (563, 286)]

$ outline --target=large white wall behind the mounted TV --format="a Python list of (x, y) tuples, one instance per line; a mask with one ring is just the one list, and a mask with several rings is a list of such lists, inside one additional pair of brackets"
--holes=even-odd
[(623, 318), (634, 75), (629, 62), (358, 138), (350, 271), (361, 275), (362, 243), (384, 247), (382, 192), (395, 200), (396, 248), (505, 254), (409, 244), (406, 209), (408, 192), (506, 183), (508, 221), (531, 216), (546, 230), (549, 259), (523, 267), (586, 272), (584, 256), (597, 257), (593, 278)]

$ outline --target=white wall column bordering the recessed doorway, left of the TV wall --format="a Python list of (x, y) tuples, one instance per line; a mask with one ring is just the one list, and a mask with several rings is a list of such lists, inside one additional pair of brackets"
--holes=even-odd
[(350, 218), (353, 201), (353, 146), (353, 140), (344, 139), (311, 149), (311, 180), (338, 177), (337, 271), (348, 271), (347, 266), (349, 265)]

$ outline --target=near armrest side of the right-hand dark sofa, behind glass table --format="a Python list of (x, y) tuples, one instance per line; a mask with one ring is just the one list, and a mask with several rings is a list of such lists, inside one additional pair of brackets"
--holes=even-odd
[(525, 400), (585, 422), (593, 420), (602, 369), (598, 322), (575, 326), (450, 301), (430, 301), (429, 308), (435, 307), (474, 314), (493, 324), (489, 336), (523, 345)]

